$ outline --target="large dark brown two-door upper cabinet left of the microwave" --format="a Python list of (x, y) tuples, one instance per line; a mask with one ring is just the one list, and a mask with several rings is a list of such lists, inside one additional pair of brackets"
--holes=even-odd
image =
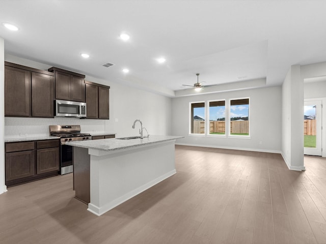
[(5, 62), (5, 116), (53, 117), (54, 75)]

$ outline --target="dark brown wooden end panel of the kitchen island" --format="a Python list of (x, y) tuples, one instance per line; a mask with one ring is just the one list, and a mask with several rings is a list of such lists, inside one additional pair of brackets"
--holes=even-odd
[(90, 155), (87, 148), (73, 148), (73, 185), (75, 198), (90, 202)]

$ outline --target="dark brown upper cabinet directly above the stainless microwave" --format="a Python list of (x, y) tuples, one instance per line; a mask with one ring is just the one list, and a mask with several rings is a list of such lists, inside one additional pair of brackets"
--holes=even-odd
[(56, 99), (85, 102), (85, 75), (52, 67), (55, 74)]

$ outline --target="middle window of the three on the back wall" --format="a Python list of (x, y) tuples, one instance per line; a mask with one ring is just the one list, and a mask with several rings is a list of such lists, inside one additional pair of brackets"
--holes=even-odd
[(225, 135), (225, 100), (208, 102), (209, 135)]

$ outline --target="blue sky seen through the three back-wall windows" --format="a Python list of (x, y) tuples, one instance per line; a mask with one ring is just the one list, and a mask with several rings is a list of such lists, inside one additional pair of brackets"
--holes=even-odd
[[(249, 105), (231, 105), (232, 117), (247, 117), (249, 114)], [(205, 108), (194, 108), (194, 116), (205, 118)], [(225, 106), (209, 107), (209, 120), (216, 120), (225, 117)]]

